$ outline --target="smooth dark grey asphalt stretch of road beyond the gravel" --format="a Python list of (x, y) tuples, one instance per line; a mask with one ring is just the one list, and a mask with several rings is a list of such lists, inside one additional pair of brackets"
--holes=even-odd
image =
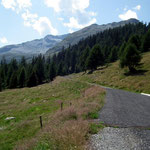
[(150, 127), (150, 97), (123, 90), (106, 89), (106, 104), (99, 120), (120, 127)]

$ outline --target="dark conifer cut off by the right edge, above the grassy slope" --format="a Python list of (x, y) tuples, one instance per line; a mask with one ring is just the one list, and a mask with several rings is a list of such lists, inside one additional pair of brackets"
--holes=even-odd
[(143, 43), (142, 43), (142, 50), (143, 52), (150, 51), (150, 29), (144, 36)]

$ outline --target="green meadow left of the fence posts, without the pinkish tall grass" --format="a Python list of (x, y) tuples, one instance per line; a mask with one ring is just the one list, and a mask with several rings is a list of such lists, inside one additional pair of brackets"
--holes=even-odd
[[(0, 131), (0, 150), (13, 149), (20, 140), (33, 137), (40, 129), (40, 115), (46, 124), (48, 117), (60, 109), (60, 101), (66, 107), (67, 102), (81, 97), (89, 87), (65, 79), (57, 82), (0, 93), (0, 127), (5, 128)], [(6, 117), (16, 119), (6, 121)]]

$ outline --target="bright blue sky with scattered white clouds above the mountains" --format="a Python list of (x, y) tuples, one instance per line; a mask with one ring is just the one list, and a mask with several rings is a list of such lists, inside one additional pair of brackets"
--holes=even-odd
[(129, 18), (150, 22), (150, 0), (0, 0), (0, 47)]

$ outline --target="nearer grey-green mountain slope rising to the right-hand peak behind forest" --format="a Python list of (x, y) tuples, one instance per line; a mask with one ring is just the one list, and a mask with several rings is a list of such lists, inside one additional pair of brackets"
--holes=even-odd
[(72, 34), (69, 34), (66, 38), (64, 38), (64, 40), (62, 40), (60, 43), (58, 43), (56, 46), (54, 46), (53, 48), (50, 48), (47, 52), (46, 55), (50, 55), (53, 52), (57, 52), (62, 50), (62, 48), (68, 48), (69, 45), (75, 45), (77, 44), (80, 40), (85, 39), (91, 35), (94, 35), (96, 33), (105, 31), (107, 29), (113, 29), (119, 26), (124, 26), (126, 24), (136, 24), (139, 23), (138, 20), (136, 19), (129, 19), (126, 21), (121, 21), (121, 22), (113, 22), (113, 23), (109, 23), (109, 24), (104, 24), (104, 25), (97, 25), (97, 24), (93, 24), (89, 27), (86, 27), (84, 29), (81, 29), (77, 32), (74, 32)]

